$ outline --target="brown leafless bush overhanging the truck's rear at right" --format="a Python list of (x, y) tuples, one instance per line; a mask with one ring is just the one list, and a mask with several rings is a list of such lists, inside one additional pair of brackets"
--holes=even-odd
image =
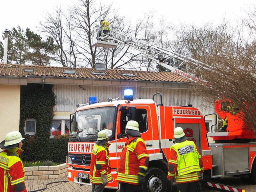
[[(255, 18), (254, 18), (255, 20)], [(253, 33), (250, 40), (243, 36), (243, 28), (228, 26), (183, 28), (179, 41), (184, 54), (200, 60), (189, 72), (204, 80), (195, 84), (198, 93), (209, 101), (227, 98), (240, 108), (241, 118), (256, 130), (256, 43)], [(252, 24), (252, 23), (250, 23)], [(248, 25), (255, 32), (252, 25)]]

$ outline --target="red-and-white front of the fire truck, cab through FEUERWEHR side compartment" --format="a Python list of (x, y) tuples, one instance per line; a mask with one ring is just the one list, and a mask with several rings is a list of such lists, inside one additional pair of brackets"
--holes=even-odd
[[(156, 104), (154, 96), (160, 95)], [(90, 161), (97, 133), (112, 130), (110, 138), (110, 167), (114, 180), (106, 188), (118, 189), (116, 181), (120, 154), (127, 140), (125, 126), (129, 120), (139, 123), (141, 137), (149, 155), (144, 192), (165, 192), (167, 188), (168, 157), (174, 144), (173, 130), (181, 126), (189, 140), (196, 143), (204, 162), (204, 169), (212, 169), (212, 153), (207, 141), (207, 130), (201, 112), (192, 106), (163, 106), (162, 95), (153, 99), (108, 99), (107, 102), (86, 104), (79, 107), (71, 118), (68, 142), (68, 181), (90, 185)]]

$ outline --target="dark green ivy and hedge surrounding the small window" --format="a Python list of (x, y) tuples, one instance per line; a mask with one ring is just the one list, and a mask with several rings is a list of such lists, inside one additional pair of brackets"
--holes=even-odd
[[(55, 94), (51, 84), (28, 84), (20, 87), (20, 132), (25, 137), (23, 142), (23, 161), (64, 162), (68, 137), (50, 139), (50, 127), (54, 116)], [(36, 134), (25, 135), (25, 120), (36, 120)]]

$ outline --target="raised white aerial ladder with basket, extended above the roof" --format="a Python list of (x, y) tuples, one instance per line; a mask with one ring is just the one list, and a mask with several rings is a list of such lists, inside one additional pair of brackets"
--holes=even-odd
[(204, 67), (204, 64), (195, 59), (186, 57), (184, 55), (178, 54), (176, 52), (154, 46), (143, 40), (133, 38), (124, 32), (117, 29), (111, 29), (105, 36), (100, 36), (103, 34), (100, 26), (94, 28), (92, 44), (96, 47), (103, 48), (115, 48), (118, 43), (126, 44), (132, 46), (136, 50), (148, 56), (151, 60), (154, 60), (160, 66), (170, 70), (171, 72), (185, 76), (192, 81), (200, 81), (195, 77), (194, 74), (188, 73), (190, 66), (197, 68), (198, 66)]

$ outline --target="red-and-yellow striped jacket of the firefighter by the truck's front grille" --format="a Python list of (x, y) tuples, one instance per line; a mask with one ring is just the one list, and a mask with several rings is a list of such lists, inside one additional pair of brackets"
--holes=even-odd
[(90, 165), (90, 182), (92, 184), (100, 185), (103, 180), (101, 174), (107, 176), (107, 180), (113, 180), (111, 169), (109, 167), (109, 150), (110, 143), (105, 145), (96, 144), (92, 149), (92, 159)]

